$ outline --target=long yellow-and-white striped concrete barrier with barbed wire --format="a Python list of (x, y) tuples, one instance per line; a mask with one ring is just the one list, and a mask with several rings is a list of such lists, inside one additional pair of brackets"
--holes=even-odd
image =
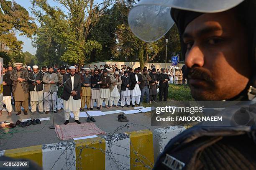
[(0, 151), (3, 155), (33, 160), (44, 170), (148, 170), (154, 166), (153, 134), (139, 130)]

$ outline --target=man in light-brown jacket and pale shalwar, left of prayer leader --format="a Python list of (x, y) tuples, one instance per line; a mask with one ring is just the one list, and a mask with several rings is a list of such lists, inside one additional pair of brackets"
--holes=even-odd
[[(53, 105), (54, 113), (56, 113), (56, 97), (57, 97), (57, 83), (59, 81), (58, 75), (53, 72), (54, 68), (49, 67), (48, 73), (44, 74), (44, 111), (49, 113), (51, 105)], [(51, 92), (53, 94), (51, 94)], [(51, 109), (52, 110), (52, 109)]]

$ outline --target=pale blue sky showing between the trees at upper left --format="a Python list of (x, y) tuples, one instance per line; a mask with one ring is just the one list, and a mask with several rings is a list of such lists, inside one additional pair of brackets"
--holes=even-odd
[[(32, 8), (32, 5), (31, 5), (31, 1), (30, 0), (15, 0), (16, 3), (18, 3), (19, 5), (23, 6), (24, 8), (26, 8), (26, 10), (30, 13), (30, 15), (33, 17), (33, 18), (36, 18), (32, 12), (31, 12), (31, 8)], [(48, 3), (51, 5), (51, 6), (57, 6), (58, 4), (55, 3), (53, 0), (48, 0)], [(39, 26), (39, 23), (35, 20), (36, 22), (36, 25)], [(34, 48), (32, 46), (32, 42), (31, 42), (31, 39), (30, 38), (27, 38), (26, 36), (19, 36), (20, 32), (16, 32), (16, 37), (18, 40), (20, 41), (23, 41), (23, 49), (22, 51), (23, 52), (30, 52), (31, 54), (36, 54), (36, 48)]]

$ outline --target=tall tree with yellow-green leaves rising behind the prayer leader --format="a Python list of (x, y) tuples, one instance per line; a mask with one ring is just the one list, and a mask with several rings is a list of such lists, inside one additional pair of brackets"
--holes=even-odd
[(60, 34), (58, 41), (65, 44), (65, 52), (61, 60), (82, 64), (88, 60), (92, 51), (102, 49), (101, 44), (89, 40), (88, 35), (104, 15), (104, 11), (112, 5), (112, 0), (103, 0), (102, 3), (95, 3), (95, 0), (56, 0), (56, 2), (66, 8), (67, 13), (60, 8), (51, 7), (46, 0), (33, 0), (33, 11), (41, 17), (43, 10), (54, 21), (53, 29)]

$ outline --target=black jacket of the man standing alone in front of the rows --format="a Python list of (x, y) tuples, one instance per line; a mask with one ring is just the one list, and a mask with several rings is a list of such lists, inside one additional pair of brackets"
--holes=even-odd
[[(69, 74), (64, 74), (63, 75), (63, 82), (69, 79), (70, 73)], [(77, 91), (77, 95), (73, 96), (74, 100), (79, 100), (81, 99), (80, 93), (81, 93), (81, 76), (78, 74), (74, 75), (74, 91)], [(71, 96), (71, 91), (72, 91), (72, 81), (69, 79), (67, 83), (64, 85), (64, 90), (61, 94), (61, 99), (64, 100), (69, 100), (69, 97)]]

